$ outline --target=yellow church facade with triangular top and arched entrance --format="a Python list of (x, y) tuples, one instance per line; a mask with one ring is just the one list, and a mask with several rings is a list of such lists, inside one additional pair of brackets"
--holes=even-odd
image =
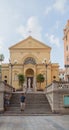
[[(25, 76), (24, 85), (32, 91), (40, 90), (36, 80), (38, 74), (45, 77), (41, 83), (41, 89), (59, 80), (59, 65), (51, 63), (51, 47), (34, 39), (32, 36), (11, 46), (10, 63), (2, 64), (2, 80), (12, 85), (16, 90), (19, 89), (18, 74)], [(30, 80), (30, 82), (28, 82)], [(29, 86), (30, 83), (30, 86)]]

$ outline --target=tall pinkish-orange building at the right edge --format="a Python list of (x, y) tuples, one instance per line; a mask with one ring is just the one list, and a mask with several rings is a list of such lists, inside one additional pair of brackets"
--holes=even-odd
[(65, 80), (69, 81), (69, 20), (64, 28), (64, 66)]

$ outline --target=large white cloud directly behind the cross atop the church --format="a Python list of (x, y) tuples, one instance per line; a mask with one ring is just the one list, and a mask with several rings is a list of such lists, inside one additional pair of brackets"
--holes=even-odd
[[(29, 33), (31, 31), (31, 34)], [(37, 17), (30, 17), (25, 25), (20, 25), (18, 27), (17, 32), (20, 33), (24, 38), (26, 38), (29, 35), (32, 35), (33, 37), (41, 40), (41, 31), (42, 28), (39, 25), (39, 21)]]

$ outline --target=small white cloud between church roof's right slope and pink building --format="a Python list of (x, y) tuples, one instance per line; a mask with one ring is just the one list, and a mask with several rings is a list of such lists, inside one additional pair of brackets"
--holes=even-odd
[(51, 44), (54, 44), (56, 46), (60, 46), (60, 41), (59, 41), (59, 38), (58, 37), (55, 37), (54, 34), (51, 34), (49, 35), (48, 33), (46, 33), (46, 38), (48, 39), (48, 41), (51, 43)]

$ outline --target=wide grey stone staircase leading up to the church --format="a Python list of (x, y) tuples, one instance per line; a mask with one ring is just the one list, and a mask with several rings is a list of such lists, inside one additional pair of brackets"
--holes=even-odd
[(52, 114), (50, 105), (44, 93), (27, 93), (26, 107), (20, 111), (20, 93), (13, 93), (8, 110), (4, 114), (9, 115), (39, 115)]

